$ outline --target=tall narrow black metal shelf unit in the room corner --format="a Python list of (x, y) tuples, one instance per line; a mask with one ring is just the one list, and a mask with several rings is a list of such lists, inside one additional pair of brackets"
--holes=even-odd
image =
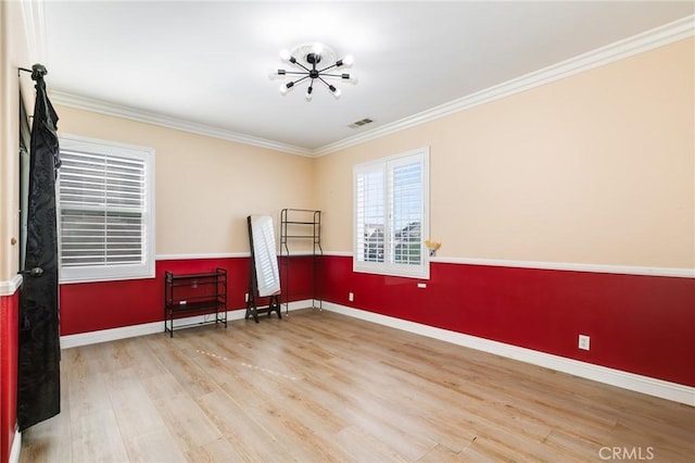
[(321, 248), (321, 211), (311, 209), (283, 209), (280, 211), (280, 262), (285, 270), (285, 313), (290, 310), (293, 293), (290, 285), (291, 261), (295, 258), (311, 259), (311, 298), (314, 309), (323, 310), (324, 249)]

